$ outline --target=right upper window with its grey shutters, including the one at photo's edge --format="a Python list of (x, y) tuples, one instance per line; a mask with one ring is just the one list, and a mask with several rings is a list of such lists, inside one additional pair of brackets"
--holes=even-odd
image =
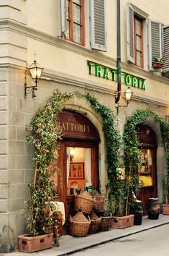
[[(133, 4), (127, 4), (127, 60), (137, 67), (146, 68), (147, 64), (150, 71), (162, 72), (169, 78), (168, 45), (169, 25), (163, 26), (157, 20), (150, 20), (148, 14)], [(163, 68), (153, 67), (154, 59), (162, 57)]]

